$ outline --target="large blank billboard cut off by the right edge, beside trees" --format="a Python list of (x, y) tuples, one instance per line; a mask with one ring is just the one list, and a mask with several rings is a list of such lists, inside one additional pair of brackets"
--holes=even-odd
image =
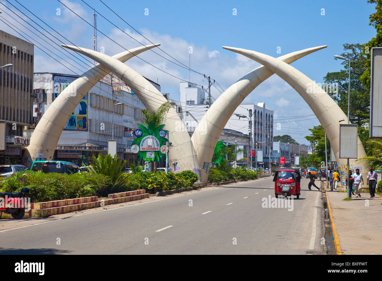
[(382, 138), (382, 47), (371, 48), (370, 138)]

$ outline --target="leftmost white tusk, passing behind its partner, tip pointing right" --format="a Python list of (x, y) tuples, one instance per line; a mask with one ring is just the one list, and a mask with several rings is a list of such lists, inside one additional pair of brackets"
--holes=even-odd
[[(141, 46), (121, 52), (120, 54), (114, 55), (113, 58), (125, 62), (135, 55), (157, 46), (160, 46), (160, 44)], [(70, 83), (70, 86), (65, 88), (58, 95), (42, 115), (34, 129), (30, 144), (25, 149), (24, 158), (31, 158), (34, 161), (36, 154), (45, 154), (47, 160), (53, 159), (58, 139), (71, 113), (85, 94), (108, 73), (109, 70), (104, 65), (95, 65), (84, 72), (78, 79)], [(73, 93), (73, 89), (75, 89), (75, 93)]]

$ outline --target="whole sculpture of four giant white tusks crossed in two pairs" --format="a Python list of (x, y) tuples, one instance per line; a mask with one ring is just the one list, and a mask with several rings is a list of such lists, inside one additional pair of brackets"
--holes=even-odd
[[(92, 58), (99, 64), (84, 72), (77, 80), (71, 83), (71, 87), (64, 89), (53, 101), (37, 124), (31, 137), (30, 145), (24, 153), (24, 158), (29, 157), (34, 160), (35, 154), (45, 154), (47, 160), (52, 160), (58, 139), (74, 108), (95, 83), (110, 71), (115, 73), (115, 75), (133, 89), (134, 93), (136, 93), (149, 111), (152, 112), (158, 109), (159, 106), (167, 101), (165, 97), (143, 76), (123, 62), (159, 45), (153, 44), (138, 47), (113, 57), (90, 49), (62, 45), (65, 48)], [(261, 63), (262, 66), (244, 75), (219, 96), (202, 117), (191, 138), (175, 109), (170, 108), (165, 121), (165, 129), (169, 131), (169, 139), (173, 145), (169, 153), (169, 163), (178, 162), (181, 171), (191, 170), (197, 172), (201, 177), (200, 183), (206, 184), (215, 145), (231, 115), (254, 88), (276, 73), (290, 84), (303, 97), (304, 101), (308, 103), (329, 138), (337, 162), (345, 164), (346, 159), (339, 158), (338, 121), (342, 119), (347, 121), (346, 115), (333, 99), (314, 81), (289, 65), (295, 60), (325, 47), (319, 46), (299, 50), (278, 58), (251, 50), (223, 47), (224, 49), (249, 57)], [(311, 91), (312, 86), (314, 91)], [(73, 88), (76, 89), (75, 95), (71, 91)], [(92, 124), (89, 125), (91, 126)], [(366, 156), (366, 153), (358, 138), (358, 158), (363, 156)], [(365, 164), (356, 162), (351, 164), (353, 164), (353, 167), (364, 166), (363, 172), (368, 170)]]

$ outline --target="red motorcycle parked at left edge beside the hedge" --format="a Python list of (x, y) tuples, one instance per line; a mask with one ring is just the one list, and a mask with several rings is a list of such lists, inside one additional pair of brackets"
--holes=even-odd
[(21, 219), (25, 214), (28, 195), (28, 187), (21, 189), (21, 192), (0, 192), (0, 218), (6, 213), (11, 214), (14, 219)]

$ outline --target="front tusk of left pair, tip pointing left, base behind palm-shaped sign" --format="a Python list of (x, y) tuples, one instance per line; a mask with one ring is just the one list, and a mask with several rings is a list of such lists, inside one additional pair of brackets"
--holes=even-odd
[[(70, 45), (62, 46), (86, 55), (113, 71), (115, 75), (133, 89), (134, 93), (149, 111), (152, 112), (157, 110), (164, 102), (167, 102), (167, 99), (163, 94), (160, 93), (149, 81), (133, 70), (133, 68), (128, 67), (119, 60), (90, 49)], [(177, 166), (180, 166), (181, 171), (193, 171), (194, 168), (199, 168), (191, 138), (188, 135), (185, 125), (173, 107), (170, 107), (170, 110), (166, 115), (165, 123), (165, 128), (170, 135), (170, 142), (173, 145), (169, 150), (168, 161), (170, 163), (178, 162)]]

